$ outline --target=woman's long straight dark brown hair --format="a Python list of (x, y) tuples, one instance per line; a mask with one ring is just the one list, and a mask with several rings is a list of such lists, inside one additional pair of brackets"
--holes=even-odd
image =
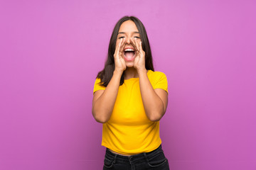
[[(129, 20), (133, 21), (137, 26), (137, 29), (139, 30), (139, 37), (142, 40), (142, 50), (144, 50), (145, 52), (145, 67), (146, 69), (151, 69), (152, 71), (154, 71), (149, 39), (146, 35), (146, 29), (142, 21), (139, 21), (139, 19), (136, 18), (135, 16), (124, 16), (121, 19), (119, 19), (117, 24), (114, 26), (114, 30), (110, 38), (110, 45), (108, 48), (107, 61), (105, 62), (105, 67), (104, 69), (102, 69), (102, 71), (100, 71), (97, 74), (97, 78), (100, 78), (100, 84), (102, 86), (107, 86), (107, 84), (109, 84), (110, 80), (112, 79), (113, 72), (114, 72), (114, 51), (115, 51), (116, 42), (117, 42), (117, 34), (122, 23), (124, 23), (124, 21), (129, 21)], [(119, 85), (121, 86), (122, 84), (124, 84), (124, 72), (120, 79)]]

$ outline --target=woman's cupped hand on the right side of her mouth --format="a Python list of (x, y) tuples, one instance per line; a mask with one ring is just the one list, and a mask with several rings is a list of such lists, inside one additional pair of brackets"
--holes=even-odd
[(137, 71), (145, 70), (145, 52), (142, 50), (142, 41), (137, 38), (131, 38), (132, 45), (135, 47), (134, 68)]

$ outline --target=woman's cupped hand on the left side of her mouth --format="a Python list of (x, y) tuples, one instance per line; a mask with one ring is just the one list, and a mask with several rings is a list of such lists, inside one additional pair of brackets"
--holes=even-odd
[(114, 69), (118, 72), (124, 72), (124, 70), (126, 69), (126, 64), (124, 58), (122, 57), (125, 42), (125, 38), (121, 38), (119, 44), (114, 51)]

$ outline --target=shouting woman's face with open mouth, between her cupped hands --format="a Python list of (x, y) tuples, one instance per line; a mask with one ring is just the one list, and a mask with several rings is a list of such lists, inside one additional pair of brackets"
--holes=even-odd
[(116, 48), (121, 38), (125, 38), (124, 51), (122, 57), (127, 67), (133, 67), (135, 58), (135, 48), (132, 45), (131, 38), (139, 39), (139, 30), (133, 21), (124, 21), (119, 28), (117, 35)]

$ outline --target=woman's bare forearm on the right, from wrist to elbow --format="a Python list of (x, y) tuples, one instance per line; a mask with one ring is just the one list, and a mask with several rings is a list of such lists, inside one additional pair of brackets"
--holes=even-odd
[(139, 87), (146, 116), (151, 121), (160, 120), (165, 113), (164, 103), (151, 86), (146, 69), (138, 71), (138, 74)]

